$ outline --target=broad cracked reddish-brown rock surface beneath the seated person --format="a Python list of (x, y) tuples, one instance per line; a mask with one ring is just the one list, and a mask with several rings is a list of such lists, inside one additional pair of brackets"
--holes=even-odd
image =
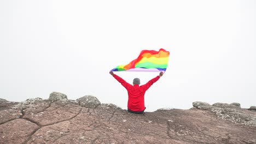
[(75, 100), (6, 103), (0, 143), (256, 143), (256, 111), (229, 104), (196, 101), (189, 110), (136, 115), (100, 101), (95, 108)]

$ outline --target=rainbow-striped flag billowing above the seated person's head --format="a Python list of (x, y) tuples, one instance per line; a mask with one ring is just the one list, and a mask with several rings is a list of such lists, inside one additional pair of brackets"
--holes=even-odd
[(118, 65), (110, 71), (163, 71), (165, 72), (168, 64), (170, 52), (160, 49), (142, 50), (137, 59), (129, 64)]

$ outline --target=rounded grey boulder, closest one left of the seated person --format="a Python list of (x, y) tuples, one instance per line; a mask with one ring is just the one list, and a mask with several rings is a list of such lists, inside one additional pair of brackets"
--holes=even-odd
[(85, 95), (82, 98), (77, 99), (80, 106), (95, 109), (101, 102), (92, 95)]

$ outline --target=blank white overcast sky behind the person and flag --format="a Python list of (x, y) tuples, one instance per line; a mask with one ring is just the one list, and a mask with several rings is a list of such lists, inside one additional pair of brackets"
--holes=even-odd
[[(255, 1), (0, 1), (0, 98), (61, 92), (127, 109), (109, 75), (141, 50), (170, 51), (146, 111), (193, 101), (256, 105)], [(115, 72), (144, 84), (159, 73)]]

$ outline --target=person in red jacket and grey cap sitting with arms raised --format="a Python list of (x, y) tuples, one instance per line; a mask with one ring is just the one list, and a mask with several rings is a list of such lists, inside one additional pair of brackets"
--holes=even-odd
[(121, 83), (122, 86), (126, 88), (128, 92), (128, 111), (131, 113), (143, 114), (144, 110), (146, 109), (144, 105), (144, 94), (148, 88), (152, 86), (153, 83), (158, 81), (164, 73), (160, 72), (158, 76), (154, 77), (152, 80), (141, 86), (139, 86), (141, 82), (138, 78), (133, 79), (133, 85), (131, 85), (118, 75), (114, 74), (113, 71), (110, 71), (109, 74), (112, 75), (118, 82)]

